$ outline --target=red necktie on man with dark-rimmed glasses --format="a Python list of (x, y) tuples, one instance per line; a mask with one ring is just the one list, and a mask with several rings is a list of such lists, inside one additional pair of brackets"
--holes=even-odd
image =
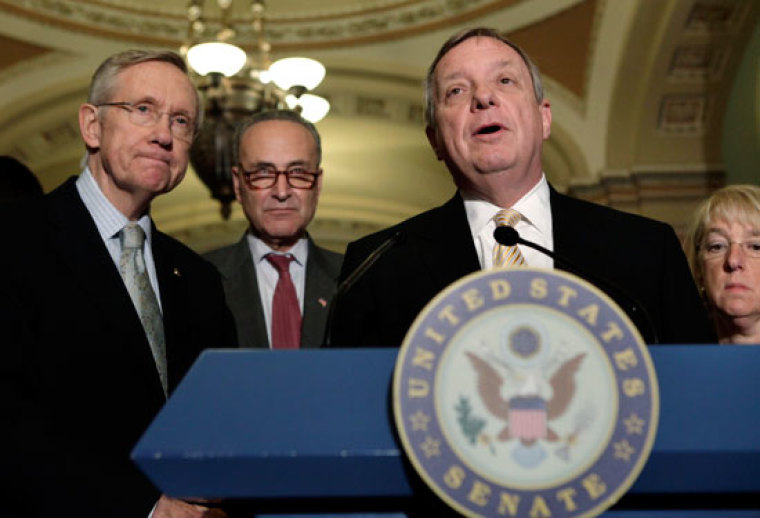
[(280, 275), (272, 297), (272, 349), (298, 349), (301, 343), (301, 307), (290, 278), (292, 255), (266, 256)]

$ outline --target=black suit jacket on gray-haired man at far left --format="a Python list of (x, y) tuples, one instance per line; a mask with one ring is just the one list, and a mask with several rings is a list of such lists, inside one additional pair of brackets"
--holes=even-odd
[[(144, 518), (159, 492), (129, 455), (165, 397), (74, 180), (0, 210), (0, 510)], [(202, 349), (236, 340), (214, 268), (156, 230), (152, 246), (171, 391)]]

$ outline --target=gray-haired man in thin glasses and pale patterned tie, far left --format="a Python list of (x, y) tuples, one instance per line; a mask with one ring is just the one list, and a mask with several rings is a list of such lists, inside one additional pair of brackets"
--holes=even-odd
[(160, 495), (130, 460), (201, 350), (236, 346), (218, 273), (149, 213), (199, 118), (178, 55), (116, 54), (79, 109), (82, 174), (23, 221), (3, 213), (3, 516), (224, 516)]

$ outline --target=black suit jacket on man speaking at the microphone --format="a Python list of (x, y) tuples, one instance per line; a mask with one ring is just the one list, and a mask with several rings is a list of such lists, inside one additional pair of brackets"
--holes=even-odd
[[(608, 291), (647, 343), (714, 342), (673, 230), (666, 224), (550, 189), (554, 251), (619, 287)], [(459, 194), (441, 207), (349, 244), (341, 277), (395, 232), (390, 248), (336, 303), (332, 344), (398, 346), (417, 314), (452, 282), (480, 269)], [(555, 267), (563, 268), (559, 262)], [(599, 286), (601, 288), (601, 286)], [(623, 295), (626, 294), (626, 295)], [(651, 317), (632, 310), (637, 299)], [(654, 332), (652, 331), (654, 327)]]

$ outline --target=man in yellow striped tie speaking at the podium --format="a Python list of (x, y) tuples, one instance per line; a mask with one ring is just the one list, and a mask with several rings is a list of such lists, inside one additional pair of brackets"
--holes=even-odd
[[(343, 279), (382, 251), (339, 293), (332, 345), (399, 346), (437, 293), (495, 263), (574, 270), (615, 299), (647, 343), (714, 341), (668, 225), (572, 199), (547, 182), (541, 149), (551, 107), (519, 47), (492, 29), (453, 36), (428, 70), (425, 96), (428, 140), (458, 192), (349, 244)], [(496, 243), (497, 220), (553, 251), (557, 264), (527, 246)]]

